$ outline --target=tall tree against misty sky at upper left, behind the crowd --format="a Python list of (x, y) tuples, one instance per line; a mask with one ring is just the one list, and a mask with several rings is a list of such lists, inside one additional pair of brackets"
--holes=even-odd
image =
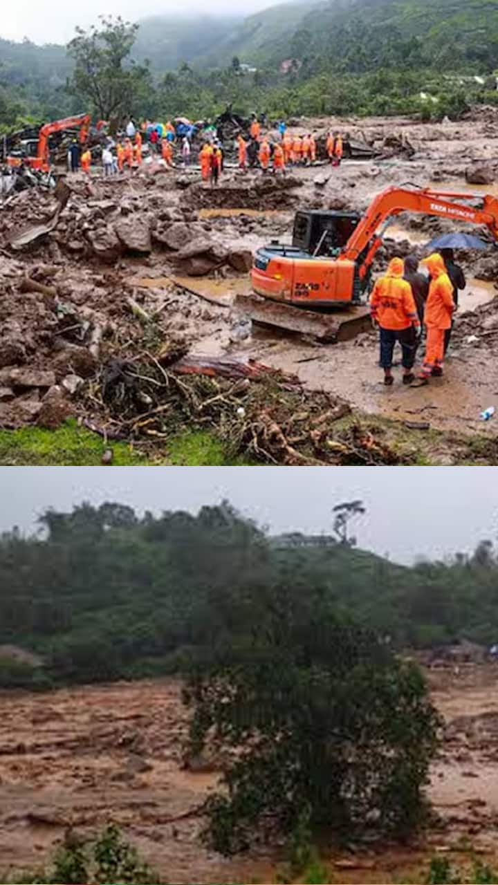
[(76, 27), (76, 36), (67, 44), (74, 58), (74, 72), (69, 89), (105, 120), (121, 118), (134, 111), (146, 112), (147, 93), (152, 93), (148, 65), (136, 65), (129, 55), (138, 25), (100, 16), (100, 27), (84, 31)]

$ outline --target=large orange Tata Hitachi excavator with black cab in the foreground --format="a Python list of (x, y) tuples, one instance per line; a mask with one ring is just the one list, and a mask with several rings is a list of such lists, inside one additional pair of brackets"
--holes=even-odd
[(274, 241), (257, 250), (251, 273), (256, 295), (238, 296), (237, 306), (255, 322), (324, 341), (354, 337), (370, 325), (365, 301), (371, 265), (385, 229), (401, 212), (484, 225), (498, 241), (494, 196), (389, 188), (375, 197), (363, 216), (297, 212), (292, 245)]

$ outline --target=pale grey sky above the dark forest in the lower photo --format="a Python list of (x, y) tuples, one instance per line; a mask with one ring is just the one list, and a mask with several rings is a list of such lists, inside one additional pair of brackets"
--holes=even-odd
[(359, 546), (399, 562), (498, 539), (496, 467), (0, 467), (0, 530), (35, 527), (48, 507), (118, 501), (138, 512), (229, 498), (274, 532), (329, 531), (331, 507), (362, 498)]

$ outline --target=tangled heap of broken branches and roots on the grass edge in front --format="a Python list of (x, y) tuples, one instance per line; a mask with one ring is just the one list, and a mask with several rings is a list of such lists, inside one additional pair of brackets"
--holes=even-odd
[[(234, 457), (268, 464), (399, 463), (379, 431), (359, 422), (338, 428), (348, 404), (307, 392), (295, 377), (230, 359), (223, 366), (187, 356), (165, 366), (149, 353), (105, 366), (91, 382), (88, 403), (94, 414), (100, 404), (103, 435), (167, 443), (187, 428), (209, 429), (222, 436)], [(223, 371), (230, 377), (222, 377)]]

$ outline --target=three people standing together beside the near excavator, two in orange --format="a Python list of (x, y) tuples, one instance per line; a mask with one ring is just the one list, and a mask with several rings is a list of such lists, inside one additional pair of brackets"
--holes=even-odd
[[(393, 258), (387, 273), (380, 277), (370, 296), (370, 312), (380, 330), (380, 366), (384, 383), (393, 384), (393, 350), (401, 344), (403, 384), (422, 387), (431, 377), (443, 373), (458, 291), (465, 289), (462, 268), (455, 264), (453, 250), (443, 249), (424, 258), (426, 277), (418, 271), (418, 259), (410, 255)], [(416, 376), (416, 351), (426, 329), (424, 361)]]

